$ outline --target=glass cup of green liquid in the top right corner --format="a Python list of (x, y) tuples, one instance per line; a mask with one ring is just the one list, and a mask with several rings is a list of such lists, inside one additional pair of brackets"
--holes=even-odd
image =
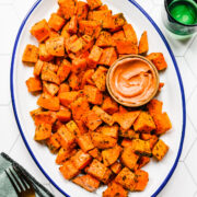
[(194, 34), (197, 32), (197, 0), (164, 0), (162, 20), (176, 35)]

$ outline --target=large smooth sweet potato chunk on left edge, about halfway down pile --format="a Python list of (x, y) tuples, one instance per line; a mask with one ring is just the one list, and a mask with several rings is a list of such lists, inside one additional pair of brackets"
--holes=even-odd
[(42, 94), (37, 100), (37, 105), (49, 111), (59, 111), (59, 99), (57, 96), (46, 96), (46, 94)]

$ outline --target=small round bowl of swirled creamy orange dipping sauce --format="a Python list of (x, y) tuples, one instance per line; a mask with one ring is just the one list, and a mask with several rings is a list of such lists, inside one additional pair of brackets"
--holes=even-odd
[(150, 101), (158, 91), (155, 70), (142, 58), (123, 58), (109, 72), (109, 89), (116, 100), (128, 105)]

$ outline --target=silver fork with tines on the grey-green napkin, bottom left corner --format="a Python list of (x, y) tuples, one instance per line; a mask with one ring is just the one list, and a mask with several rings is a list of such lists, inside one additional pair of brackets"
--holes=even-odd
[(12, 186), (14, 187), (18, 196), (21, 196), (23, 193), (33, 189), (31, 183), (20, 174), (19, 170), (15, 166), (11, 165), (5, 170), (5, 173), (10, 182), (12, 183)]

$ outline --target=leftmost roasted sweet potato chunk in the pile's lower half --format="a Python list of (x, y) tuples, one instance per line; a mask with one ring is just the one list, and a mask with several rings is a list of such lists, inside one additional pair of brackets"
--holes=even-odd
[(57, 116), (56, 113), (50, 111), (39, 111), (37, 113), (34, 113), (34, 120), (36, 126), (43, 123), (53, 125), (57, 120)]

